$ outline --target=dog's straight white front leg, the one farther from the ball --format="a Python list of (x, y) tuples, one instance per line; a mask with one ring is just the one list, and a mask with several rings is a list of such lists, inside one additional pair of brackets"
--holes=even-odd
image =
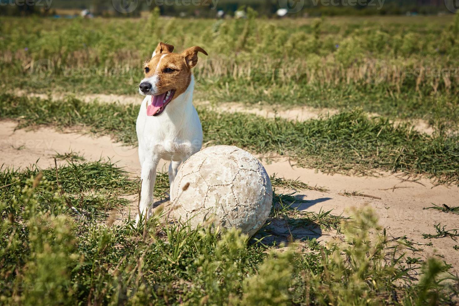
[[(142, 172), (140, 175), (142, 180), (142, 189), (140, 191), (139, 211), (143, 222), (150, 219), (153, 211), (153, 188), (155, 187), (157, 165), (158, 161), (156, 159), (145, 160), (142, 164)], [(139, 224), (139, 221), (140, 215), (138, 214), (135, 218), (136, 226)]]

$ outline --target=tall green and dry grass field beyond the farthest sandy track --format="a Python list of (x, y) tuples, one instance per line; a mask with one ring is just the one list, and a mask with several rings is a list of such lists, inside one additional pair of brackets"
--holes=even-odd
[[(209, 54), (194, 68), (198, 99), (360, 107), (438, 130), (459, 122), (457, 15), (216, 21), (152, 14), (2, 17), (0, 24), (0, 87), (7, 90), (134, 94), (142, 62), (162, 40), (178, 52), (199, 45)], [(144, 31), (147, 40), (138, 35)]]

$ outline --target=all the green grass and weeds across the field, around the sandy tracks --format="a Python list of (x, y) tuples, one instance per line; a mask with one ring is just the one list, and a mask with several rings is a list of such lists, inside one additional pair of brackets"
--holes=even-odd
[[(194, 68), (196, 98), (343, 110), (294, 122), (201, 108), (204, 142), (289, 156), (325, 172), (404, 171), (459, 185), (454, 74), (459, 15), (365, 22), (0, 18), (0, 118), (17, 120), (19, 127), (79, 127), (136, 145), (137, 105), (5, 92), (132, 94), (142, 78), (141, 63), (158, 41), (177, 51), (200, 45), (210, 56), (201, 56)], [(149, 39), (139, 35), (145, 31)], [(373, 69), (378, 65), (382, 73)], [(384, 117), (369, 118), (366, 112)], [(387, 118), (425, 119), (435, 133), (394, 127)], [(458, 301), (459, 280), (448, 273), (451, 266), (434, 258), (421, 261), (421, 249), (405, 236), (387, 237), (369, 208), (354, 211), (355, 219), (296, 208), (307, 202), (297, 190), (325, 192), (324, 187), (273, 176), (273, 186), (283, 193), (274, 193), (268, 223), (253, 239), (236, 230), (192, 230), (186, 223), (167, 222), (161, 210), (144, 232), (128, 219), (113, 223), (117, 209), (129, 204), (126, 196), (138, 192), (138, 180), (109, 162), (84, 161), (78, 153), (56, 153), (56, 158), (67, 162), (57, 175), (55, 168), (0, 169), (0, 304)], [(154, 196), (162, 199), (167, 192), (168, 175), (161, 173)], [(76, 218), (69, 206), (89, 212), (89, 218)], [(285, 228), (273, 230), (276, 222)], [(302, 229), (316, 235), (298, 233)], [(436, 230), (426, 238), (457, 236), (439, 224)], [(315, 238), (324, 234), (334, 239), (325, 245)]]

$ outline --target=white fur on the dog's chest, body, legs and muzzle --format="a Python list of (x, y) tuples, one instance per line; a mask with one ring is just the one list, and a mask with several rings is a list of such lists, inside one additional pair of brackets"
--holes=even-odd
[[(156, 79), (148, 79), (155, 88)], [(143, 81), (142, 81), (143, 82)], [(190, 85), (185, 92), (175, 97), (161, 115), (147, 116), (146, 105), (151, 96), (146, 96), (140, 106), (136, 122), (139, 141), (139, 160), (141, 171), (140, 213), (144, 218), (151, 217), (153, 208), (153, 187), (156, 168), (160, 159), (170, 160), (169, 182), (172, 190), (179, 165), (202, 146), (202, 126), (193, 106), (194, 77), (191, 73)], [(170, 192), (171, 201), (172, 192)], [(136, 224), (140, 216), (137, 215)]]

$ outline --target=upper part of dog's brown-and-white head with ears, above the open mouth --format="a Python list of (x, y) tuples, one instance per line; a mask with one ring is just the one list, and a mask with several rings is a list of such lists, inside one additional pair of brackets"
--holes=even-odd
[[(196, 66), (197, 53), (207, 55), (201, 47), (194, 46), (182, 53), (172, 53), (174, 46), (159, 43), (153, 56), (144, 64), (145, 82), (151, 84), (150, 92), (144, 94), (159, 95), (174, 90), (174, 98), (184, 93), (191, 81), (191, 68)], [(142, 87), (141, 87), (142, 88)]]

